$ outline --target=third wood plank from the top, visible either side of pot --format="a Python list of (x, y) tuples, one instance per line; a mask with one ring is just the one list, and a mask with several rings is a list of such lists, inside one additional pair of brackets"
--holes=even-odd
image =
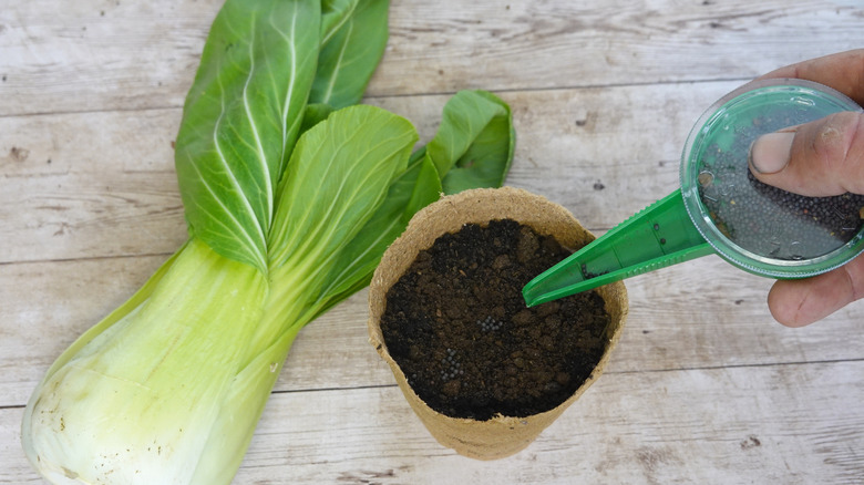
[[(0, 406), (22, 405), (53, 360), (120, 306), (162, 256), (0, 266)], [(704, 275), (710, 275), (706, 278)], [(864, 300), (791, 330), (764, 305), (770, 280), (718, 257), (626, 282), (630, 314), (610, 372), (669, 371), (864, 359)], [(387, 385), (389, 368), (368, 343), (367, 291), (300, 332), (278, 391)]]

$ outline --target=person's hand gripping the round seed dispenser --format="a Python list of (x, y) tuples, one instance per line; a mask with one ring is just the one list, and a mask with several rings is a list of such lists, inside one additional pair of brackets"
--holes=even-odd
[[(864, 105), (864, 49), (804, 61), (760, 79), (796, 78), (831, 86)], [(836, 113), (759, 137), (753, 175), (782, 189), (820, 197), (864, 194), (864, 112)], [(864, 257), (812, 278), (779, 280), (768, 295), (776, 321), (803, 327), (864, 297)]]

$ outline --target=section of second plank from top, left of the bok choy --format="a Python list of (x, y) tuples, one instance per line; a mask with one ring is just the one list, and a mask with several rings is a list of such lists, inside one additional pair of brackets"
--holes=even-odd
[(173, 252), (179, 110), (0, 118), (0, 264)]

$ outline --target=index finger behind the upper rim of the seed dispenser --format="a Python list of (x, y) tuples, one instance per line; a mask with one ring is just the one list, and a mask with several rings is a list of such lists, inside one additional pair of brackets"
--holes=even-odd
[(831, 86), (864, 105), (864, 49), (840, 52), (771, 71), (757, 80), (794, 78)]

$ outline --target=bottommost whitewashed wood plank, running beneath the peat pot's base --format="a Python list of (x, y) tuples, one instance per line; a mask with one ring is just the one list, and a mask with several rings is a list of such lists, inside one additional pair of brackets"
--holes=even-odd
[[(601, 376), (528, 448), (440, 446), (394, 386), (277, 393), (237, 484), (861, 484), (864, 362)], [(38, 483), (0, 409), (0, 483)]]

